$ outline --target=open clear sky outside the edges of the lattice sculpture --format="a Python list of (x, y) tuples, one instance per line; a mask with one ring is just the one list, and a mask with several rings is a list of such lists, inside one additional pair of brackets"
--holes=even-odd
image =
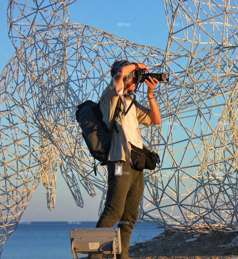
[[(0, 0), (0, 70), (15, 53), (9, 37), (7, 0)], [(114, 34), (136, 44), (165, 49), (167, 22), (162, 0), (148, 1), (76, 1), (68, 7), (70, 22), (87, 24), (98, 30)], [(33, 193), (21, 220), (23, 221), (97, 221), (101, 192), (96, 188), (95, 198), (81, 188), (83, 208), (77, 207), (71, 192), (60, 173), (57, 173), (55, 208), (47, 208), (46, 192), (42, 182)]]

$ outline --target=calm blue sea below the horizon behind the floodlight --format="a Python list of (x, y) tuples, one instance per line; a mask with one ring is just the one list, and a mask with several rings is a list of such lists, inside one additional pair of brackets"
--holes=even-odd
[[(5, 242), (1, 259), (71, 259), (71, 228), (95, 228), (96, 221), (22, 221)], [(117, 227), (115, 224), (114, 227)], [(130, 245), (144, 242), (164, 231), (148, 222), (136, 222)], [(78, 254), (85, 257), (87, 254)]]

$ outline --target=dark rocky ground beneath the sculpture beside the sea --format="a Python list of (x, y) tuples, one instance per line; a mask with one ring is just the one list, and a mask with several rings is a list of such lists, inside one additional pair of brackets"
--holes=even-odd
[(238, 232), (184, 234), (165, 230), (159, 236), (129, 248), (129, 259), (154, 258), (238, 259)]

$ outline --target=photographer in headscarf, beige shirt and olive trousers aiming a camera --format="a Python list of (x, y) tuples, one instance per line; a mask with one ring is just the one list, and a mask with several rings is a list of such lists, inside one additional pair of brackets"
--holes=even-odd
[[(118, 98), (122, 99), (121, 112), (115, 120), (116, 129), (114, 128), (111, 137), (107, 161), (108, 190), (105, 207), (96, 225), (96, 228), (113, 227), (118, 222), (122, 252), (116, 255), (117, 259), (128, 259), (132, 229), (138, 217), (138, 208), (144, 191), (143, 170), (138, 171), (131, 166), (131, 144), (143, 148), (138, 124), (150, 127), (151, 124), (161, 123), (159, 108), (153, 96), (153, 91), (159, 81), (151, 77), (149, 77), (150, 81), (145, 81), (148, 86), (150, 109), (135, 101), (128, 113), (124, 115), (132, 101), (127, 92), (130, 93), (135, 89), (137, 83), (135, 71), (138, 69), (145, 69), (149, 72), (143, 63), (132, 63), (128, 60), (115, 61), (111, 66), (111, 82), (100, 97), (100, 109), (108, 129)], [(96, 257), (102, 258), (102, 254), (89, 254), (88, 256), (88, 258)]]

